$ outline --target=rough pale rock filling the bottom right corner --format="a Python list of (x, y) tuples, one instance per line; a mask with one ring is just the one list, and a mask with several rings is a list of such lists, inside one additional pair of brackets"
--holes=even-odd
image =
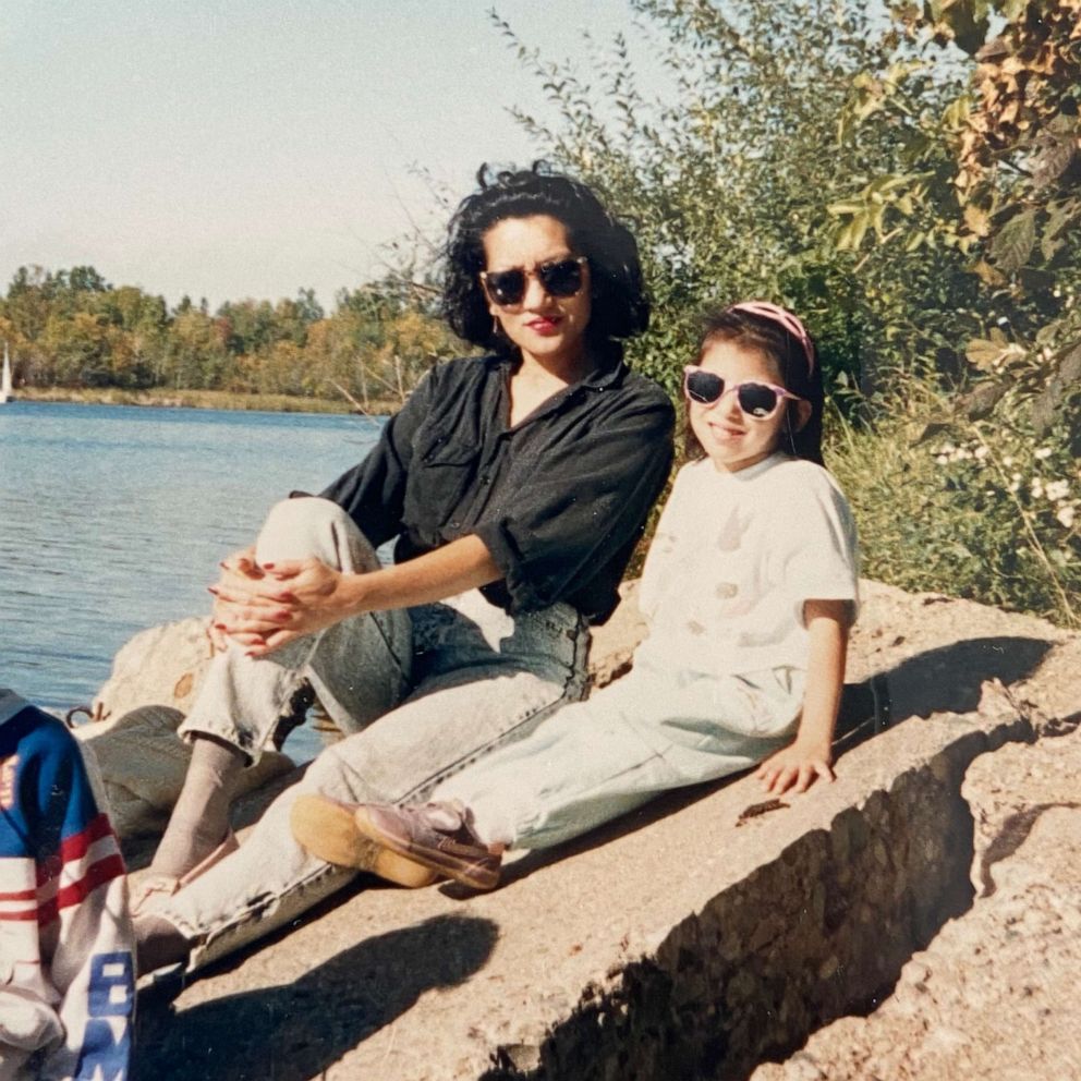
[(969, 768), (977, 896), (867, 1017), (817, 1032), (754, 1081), (1081, 1077), (1081, 732)]

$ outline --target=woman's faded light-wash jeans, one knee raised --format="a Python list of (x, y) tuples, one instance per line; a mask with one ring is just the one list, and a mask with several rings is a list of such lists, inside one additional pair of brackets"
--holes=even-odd
[[(349, 571), (377, 566), (337, 505), (315, 498), (279, 503), (259, 536), (257, 558), (306, 555)], [(182, 733), (217, 736), (254, 758), (308, 679), (352, 734), (324, 751), (270, 805), (240, 851), (156, 909), (194, 943), (190, 968), (269, 934), (354, 876), (293, 840), (289, 811), (297, 793), (345, 802), (424, 799), (581, 699), (587, 647), (588, 630), (570, 606), (510, 616), (473, 590), (345, 620), (265, 659), (238, 648), (216, 657)]]

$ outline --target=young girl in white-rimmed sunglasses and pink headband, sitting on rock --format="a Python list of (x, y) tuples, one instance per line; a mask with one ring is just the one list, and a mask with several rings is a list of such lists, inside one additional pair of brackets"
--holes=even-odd
[(821, 465), (814, 349), (791, 313), (737, 304), (707, 320), (684, 390), (696, 460), (645, 564), (632, 671), (432, 803), (299, 799), (302, 846), (403, 884), (421, 864), (490, 889), (505, 848), (560, 843), (667, 789), (756, 763), (774, 794), (833, 779), (858, 572), (851, 513)]

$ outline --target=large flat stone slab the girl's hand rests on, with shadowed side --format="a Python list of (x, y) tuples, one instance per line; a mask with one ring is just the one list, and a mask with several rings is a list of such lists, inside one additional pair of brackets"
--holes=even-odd
[[(746, 1077), (865, 1013), (949, 921), (975, 911), (974, 861), (1004, 850), (992, 822), (1023, 800), (988, 812), (985, 837), (962, 781), (1069, 729), (1079, 642), (1040, 620), (866, 583), (850, 673), (886, 675), (896, 725), (852, 733), (834, 785), (779, 803), (749, 776), (677, 793), (517, 860), (488, 895), (362, 884), (170, 1007), (147, 1000), (139, 1077)], [(989, 863), (1004, 897), (1007, 862)], [(1023, 889), (1072, 883), (1049, 873)], [(1059, 926), (1076, 940), (1068, 915)], [(994, 964), (984, 973), (1010, 979)], [(1005, 1012), (1010, 996), (985, 1001)], [(1072, 1016), (1043, 1006), (1052, 1020)], [(942, 1076), (998, 1076), (960, 1064)], [(1042, 1065), (1030, 1076), (1077, 1072)]]

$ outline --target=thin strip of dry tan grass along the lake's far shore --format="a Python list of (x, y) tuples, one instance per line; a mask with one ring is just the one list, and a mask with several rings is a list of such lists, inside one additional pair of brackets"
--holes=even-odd
[(401, 409), (392, 399), (373, 399), (362, 411), (345, 400), (299, 398), (293, 394), (244, 394), (228, 390), (121, 390), (114, 387), (69, 389), (22, 387), (13, 399), (23, 402), (62, 402), (73, 405), (138, 405), (147, 409), (217, 409), (259, 413), (337, 413), (390, 416)]

